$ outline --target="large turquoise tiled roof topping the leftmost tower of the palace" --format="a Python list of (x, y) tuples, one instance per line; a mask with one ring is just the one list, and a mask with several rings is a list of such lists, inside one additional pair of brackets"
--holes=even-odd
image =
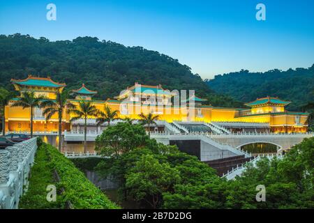
[(48, 88), (61, 88), (66, 86), (66, 84), (54, 82), (50, 77), (33, 77), (31, 75), (26, 79), (11, 79), (11, 82), (20, 86), (41, 86)]

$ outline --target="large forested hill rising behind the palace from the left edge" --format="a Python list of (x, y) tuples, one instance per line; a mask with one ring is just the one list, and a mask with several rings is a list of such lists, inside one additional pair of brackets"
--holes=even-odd
[(176, 59), (143, 47), (125, 47), (98, 38), (78, 37), (51, 42), (29, 35), (0, 36), (0, 87), (13, 89), (10, 79), (24, 79), (29, 74), (50, 75), (65, 82), (67, 89), (82, 83), (98, 91), (96, 98), (105, 100), (120, 91), (140, 84), (162, 84), (166, 89), (194, 89), (197, 95), (216, 106), (241, 106), (232, 98), (211, 91), (199, 75)]

